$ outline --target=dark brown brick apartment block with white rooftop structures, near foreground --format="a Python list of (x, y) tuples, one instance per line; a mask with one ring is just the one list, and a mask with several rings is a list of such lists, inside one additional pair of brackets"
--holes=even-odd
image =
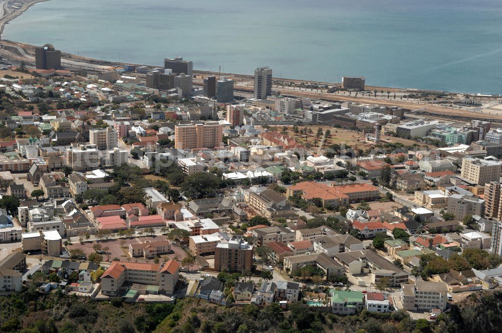
[(228, 242), (214, 248), (214, 268), (218, 271), (243, 272), (253, 267), (253, 245), (242, 236), (233, 236)]

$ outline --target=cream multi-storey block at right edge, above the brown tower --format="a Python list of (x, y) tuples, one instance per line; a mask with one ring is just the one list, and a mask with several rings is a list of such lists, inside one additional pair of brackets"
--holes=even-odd
[(460, 177), (478, 185), (498, 182), (501, 167), (502, 163), (498, 161), (465, 157), (462, 159)]

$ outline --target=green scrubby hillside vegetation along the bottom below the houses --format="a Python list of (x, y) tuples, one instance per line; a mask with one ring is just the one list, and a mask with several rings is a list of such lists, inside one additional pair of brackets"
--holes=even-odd
[(177, 304), (126, 304), (35, 289), (0, 297), (0, 332), (22, 333), (439, 333), (500, 332), (502, 292), (473, 294), (437, 321), (412, 320), (406, 312), (338, 316), (300, 302), (226, 308), (198, 298)]

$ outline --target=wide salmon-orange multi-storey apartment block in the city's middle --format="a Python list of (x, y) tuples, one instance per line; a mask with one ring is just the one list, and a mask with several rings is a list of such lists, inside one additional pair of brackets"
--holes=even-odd
[(212, 148), (219, 146), (223, 140), (223, 125), (217, 121), (176, 125), (174, 137), (176, 149)]

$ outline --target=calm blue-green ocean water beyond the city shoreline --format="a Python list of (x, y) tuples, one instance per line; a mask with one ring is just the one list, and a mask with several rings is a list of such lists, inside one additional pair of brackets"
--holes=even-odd
[(111, 61), (502, 93), (501, 0), (51, 0), (4, 38)]

